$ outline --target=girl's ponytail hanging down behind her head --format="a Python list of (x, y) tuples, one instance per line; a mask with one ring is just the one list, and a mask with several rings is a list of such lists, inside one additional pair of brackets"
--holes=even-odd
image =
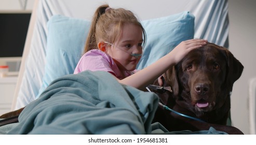
[(85, 43), (84, 53), (86, 53), (92, 49), (98, 48), (98, 44), (96, 41), (96, 24), (97, 24), (97, 21), (99, 20), (100, 16), (105, 13), (105, 9), (108, 7), (109, 7), (109, 5), (102, 5), (96, 10), (96, 12), (93, 16), (93, 19), (91, 21), (90, 30), (89, 30), (87, 40)]

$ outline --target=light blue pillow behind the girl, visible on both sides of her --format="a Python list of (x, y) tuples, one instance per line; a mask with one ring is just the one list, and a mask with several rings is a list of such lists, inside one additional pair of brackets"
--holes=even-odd
[[(142, 21), (147, 35), (138, 69), (166, 55), (181, 41), (194, 37), (194, 16), (185, 11), (176, 15)], [(39, 95), (55, 79), (73, 74), (84, 50), (90, 21), (55, 15), (47, 23), (46, 65)]]

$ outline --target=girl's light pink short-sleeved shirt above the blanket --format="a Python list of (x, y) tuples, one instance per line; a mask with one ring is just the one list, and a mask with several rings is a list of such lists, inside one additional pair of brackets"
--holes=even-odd
[[(107, 71), (118, 79), (124, 79), (114, 60), (109, 55), (98, 49), (90, 50), (80, 58), (78, 64), (76, 65), (74, 74), (78, 74), (79, 72), (85, 70)], [(126, 71), (125, 77), (134, 74), (134, 72), (137, 72), (137, 70)]]

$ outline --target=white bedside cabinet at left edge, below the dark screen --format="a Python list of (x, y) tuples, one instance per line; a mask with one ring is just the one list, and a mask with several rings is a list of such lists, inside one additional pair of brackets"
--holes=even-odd
[(0, 78), (0, 115), (10, 112), (18, 77)]

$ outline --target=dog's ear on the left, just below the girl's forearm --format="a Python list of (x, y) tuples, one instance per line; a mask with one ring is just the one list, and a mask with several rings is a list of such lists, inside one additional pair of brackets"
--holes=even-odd
[(179, 83), (175, 66), (166, 71), (167, 84), (171, 86), (171, 90), (174, 96), (179, 94)]

